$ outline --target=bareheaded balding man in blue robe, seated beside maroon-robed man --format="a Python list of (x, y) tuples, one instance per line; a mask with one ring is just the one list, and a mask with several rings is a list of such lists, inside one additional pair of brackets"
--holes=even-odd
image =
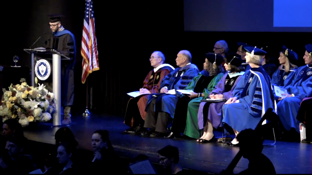
[[(159, 137), (167, 133), (168, 123), (172, 121), (175, 106), (182, 96), (177, 90), (187, 87), (188, 83), (199, 72), (197, 66), (191, 64), (191, 61), (191, 53), (187, 50), (181, 50), (176, 59), (179, 68), (163, 78), (160, 85), (160, 94), (151, 94), (149, 96), (144, 123), (144, 128), (149, 128), (149, 130), (141, 133), (142, 136)], [(168, 94), (168, 91), (174, 93)]]

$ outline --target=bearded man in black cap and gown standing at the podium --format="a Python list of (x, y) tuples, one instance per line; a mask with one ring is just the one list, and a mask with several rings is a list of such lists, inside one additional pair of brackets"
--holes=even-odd
[(61, 54), (70, 57), (70, 60), (61, 60), (61, 105), (64, 109), (62, 124), (66, 125), (71, 123), (71, 106), (74, 102), (75, 36), (62, 26), (61, 17), (64, 16), (59, 14), (49, 16), (51, 33), (48, 35), (43, 47), (57, 50)]

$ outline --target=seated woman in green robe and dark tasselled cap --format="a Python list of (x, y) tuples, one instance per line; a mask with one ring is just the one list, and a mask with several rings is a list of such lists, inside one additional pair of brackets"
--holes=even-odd
[[(184, 90), (192, 90), (191, 95), (183, 95), (177, 102), (176, 109), (173, 116), (173, 124), (171, 132), (165, 138), (179, 136), (184, 133), (189, 137), (198, 139), (199, 134), (197, 124), (197, 113), (199, 104), (202, 99), (209, 97), (209, 93), (215, 88), (217, 83), (224, 75), (222, 68), (223, 57), (214, 53), (207, 53), (204, 63), (204, 70), (188, 84)], [(192, 123), (189, 124), (188, 123)], [(197, 136), (198, 135), (198, 136)]]

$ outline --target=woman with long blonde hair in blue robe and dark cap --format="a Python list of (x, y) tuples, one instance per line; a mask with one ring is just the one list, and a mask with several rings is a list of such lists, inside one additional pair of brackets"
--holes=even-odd
[[(284, 45), (278, 60), (280, 61), (280, 67), (273, 74), (271, 81), (274, 94), (274, 86), (285, 88), (290, 85), (295, 76), (295, 72), (298, 69), (295, 65), (298, 61), (298, 54), (290, 49), (287, 49)], [(275, 97), (275, 100), (278, 100), (278, 98), (279, 97)]]

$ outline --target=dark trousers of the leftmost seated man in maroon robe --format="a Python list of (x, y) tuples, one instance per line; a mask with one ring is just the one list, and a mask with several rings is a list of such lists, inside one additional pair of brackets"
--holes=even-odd
[(128, 102), (126, 114), (124, 115), (124, 123), (128, 126), (131, 126), (131, 120), (133, 118), (133, 126), (144, 126), (144, 120), (141, 117), (138, 101), (141, 96), (136, 98), (131, 98)]

